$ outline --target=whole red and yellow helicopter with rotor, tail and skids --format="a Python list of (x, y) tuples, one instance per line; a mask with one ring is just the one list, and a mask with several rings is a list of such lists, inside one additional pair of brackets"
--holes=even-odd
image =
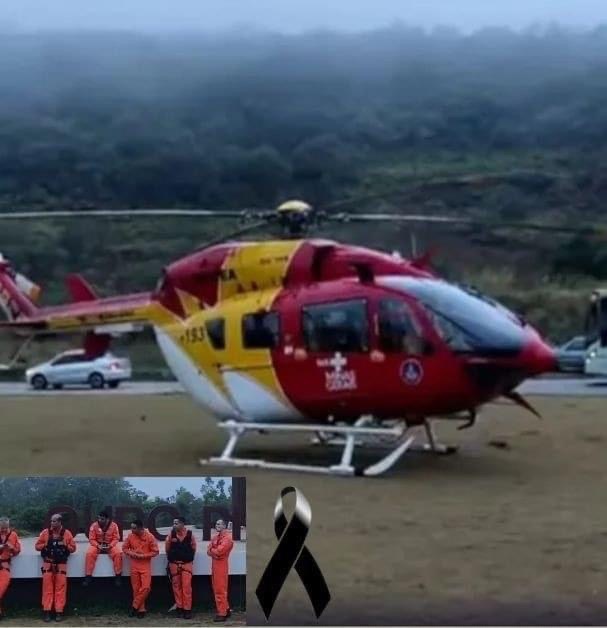
[[(27, 341), (85, 332), (90, 355), (107, 350), (110, 333), (152, 326), (177, 380), (229, 434), (223, 452), (207, 462), (379, 475), (416, 448), (420, 430), (423, 450), (453, 450), (436, 441), (435, 418), (470, 426), (478, 409), (500, 396), (533, 411), (515, 389), (556, 370), (552, 349), (527, 322), (478, 291), (436, 276), (425, 257), (408, 260), (305, 237), (323, 221), (474, 227), (473, 220), (336, 214), (302, 201), (245, 214), (87, 210), (0, 218), (125, 215), (240, 217), (244, 225), (230, 237), (274, 224), (283, 239), (220, 238), (164, 268), (152, 292), (98, 298), (83, 278), (70, 276), (72, 303), (54, 307), (38, 307), (38, 287), (0, 260), (0, 302), (9, 316), (3, 325)], [(316, 443), (341, 446), (341, 460), (312, 466), (238, 458), (235, 447), (250, 431), (311, 432)], [(357, 446), (378, 443), (388, 446), (380, 460), (366, 468), (353, 464)]]

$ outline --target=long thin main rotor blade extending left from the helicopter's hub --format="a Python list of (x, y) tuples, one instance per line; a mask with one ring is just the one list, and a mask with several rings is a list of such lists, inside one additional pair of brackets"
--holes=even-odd
[(0, 220), (28, 220), (32, 218), (137, 218), (159, 217), (209, 217), (209, 218), (259, 218), (273, 214), (268, 209), (214, 210), (214, 209), (61, 209), (57, 211), (2, 211)]

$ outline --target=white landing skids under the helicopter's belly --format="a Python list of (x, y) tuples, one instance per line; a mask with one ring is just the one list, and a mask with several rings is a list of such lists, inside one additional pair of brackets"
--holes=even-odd
[[(451, 454), (454, 447), (441, 445), (436, 441), (432, 424), (426, 420), (420, 426), (409, 427), (404, 421), (396, 421), (391, 427), (370, 426), (372, 417), (361, 417), (354, 425), (290, 425), (273, 423), (239, 423), (225, 421), (219, 427), (227, 430), (228, 442), (221, 456), (201, 459), (200, 464), (221, 465), (233, 467), (254, 467), (260, 469), (276, 469), (281, 471), (301, 471), (307, 473), (322, 473), (326, 475), (363, 475), (374, 477), (382, 475), (390, 469), (407, 451), (430, 452), (439, 455)], [(425, 443), (414, 445), (416, 434), (423, 428), (426, 435)], [(341, 447), (342, 454), (339, 464), (302, 465), (283, 462), (270, 462), (259, 458), (238, 458), (233, 455), (239, 439), (247, 432), (262, 432), (265, 434), (279, 432), (312, 432), (315, 437), (312, 442), (316, 445)], [(367, 467), (354, 466), (352, 458), (356, 447), (363, 448), (389, 448), (387, 454), (376, 463)]]

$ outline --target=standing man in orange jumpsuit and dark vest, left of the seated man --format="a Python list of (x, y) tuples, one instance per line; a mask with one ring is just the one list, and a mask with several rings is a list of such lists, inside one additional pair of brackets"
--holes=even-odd
[(35, 547), (42, 555), (44, 621), (51, 621), (53, 607), (55, 621), (61, 621), (67, 596), (67, 560), (76, 551), (74, 537), (63, 527), (61, 515), (51, 517), (50, 527), (42, 530)]

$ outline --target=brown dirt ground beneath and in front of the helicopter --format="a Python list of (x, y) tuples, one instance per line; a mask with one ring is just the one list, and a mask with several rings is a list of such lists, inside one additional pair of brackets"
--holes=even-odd
[[(456, 455), (411, 455), (381, 478), (236, 470), (248, 478), (248, 623), (265, 624), (254, 588), (276, 547), (276, 498), (294, 485), (332, 594), (321, 623), (604, 624), (607, 403), (532, 401), (543, 420), (500, 404), (470, 430), (439, 423)], [(230, 474), (198, 466), (223, 433), (185, 396), (3, 397), (0, 417), (7, 475)], [(256, 436), (241, 453), (324, 456), (304, 443)], [(316, 623), (295, 572), (271, 622)]]

